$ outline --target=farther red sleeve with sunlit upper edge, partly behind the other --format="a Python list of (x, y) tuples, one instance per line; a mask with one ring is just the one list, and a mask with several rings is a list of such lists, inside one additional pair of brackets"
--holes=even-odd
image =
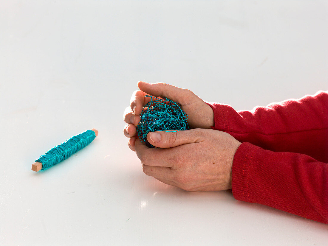
[(215, 130), (240, 142), (276, 152), (296, 152), (328, 162), (328, 92), (291, 99), (251, 111), (208, 103), (214, 111)]

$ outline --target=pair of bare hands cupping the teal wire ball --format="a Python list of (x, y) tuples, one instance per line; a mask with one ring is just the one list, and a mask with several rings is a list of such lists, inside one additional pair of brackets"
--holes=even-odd
[[(139, 81), (138, 87), (123, 118), (127, 123), (124, 135), (130, 138), (128, 145), (140, 159), (143, 172), (187, 191), (231, 189), (232, 163), (241, 143), (228, 133), (210, 129), (214, 125), (212, 108), (190, 90), (173, 85)], [(135, 134), (140, 113), (149, 99), (144, 96), (148, 94), (181, 104), (193, 129), (151, 132), (147, 139), (159, 148), (144, 145)]]

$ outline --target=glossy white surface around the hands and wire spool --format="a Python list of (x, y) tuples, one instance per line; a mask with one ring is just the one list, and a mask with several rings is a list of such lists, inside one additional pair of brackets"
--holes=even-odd
[[(326, 1), (0, 1), (0, 245), (327, 245), (328, 225), (146, 176), (136, 82), (252, 109), (328, 89)], [(99, 136), (38, 173), (87, 129)]]

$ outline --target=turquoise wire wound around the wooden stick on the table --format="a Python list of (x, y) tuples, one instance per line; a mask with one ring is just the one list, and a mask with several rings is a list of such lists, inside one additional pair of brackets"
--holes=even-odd
[(86, 130), (85, 132), (79, 133), (76, 136), (71, 137), (65, 142), (58, 144), (35, 162), (42, 163), (42, 169), (49, 168), (83, 149), (89, 143), (91, 143), (96, 137), (96, 134), (92, 130)]

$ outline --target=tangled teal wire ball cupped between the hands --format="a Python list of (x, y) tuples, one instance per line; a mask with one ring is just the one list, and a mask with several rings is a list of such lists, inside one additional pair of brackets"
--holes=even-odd
[(137, 133), (141, 142), (150, 148), (155, 148), (147, 141), (147, 134), (154, 131), (180, 131), (188, 130), (188, 115), (181, 109), (180, 104), (168, 98), (159, 99), (151, 95), (151, 101), (147, 103), (137, 125)]

